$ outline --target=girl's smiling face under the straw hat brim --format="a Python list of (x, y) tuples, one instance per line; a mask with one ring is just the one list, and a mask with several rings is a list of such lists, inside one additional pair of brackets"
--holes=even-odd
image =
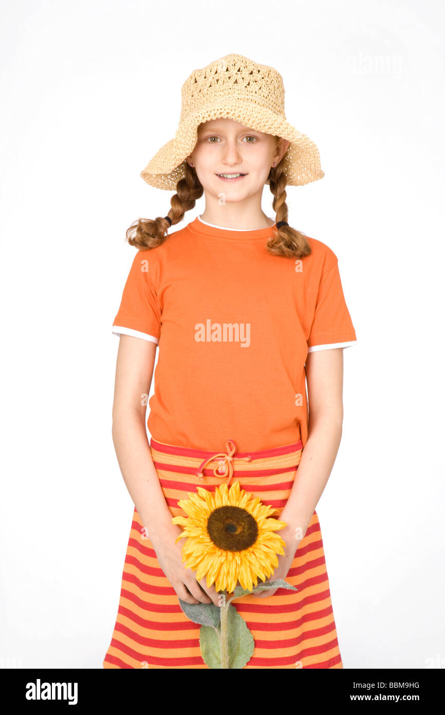
[[(271, 167), (279, 163), (289, 142), (244, 127), (234, 119), (200, 124), (193, 152), (187, 157), (204, 189), (239, 201), (262, 192)], [(223, 177), (221, 174), (243, 174)]]

